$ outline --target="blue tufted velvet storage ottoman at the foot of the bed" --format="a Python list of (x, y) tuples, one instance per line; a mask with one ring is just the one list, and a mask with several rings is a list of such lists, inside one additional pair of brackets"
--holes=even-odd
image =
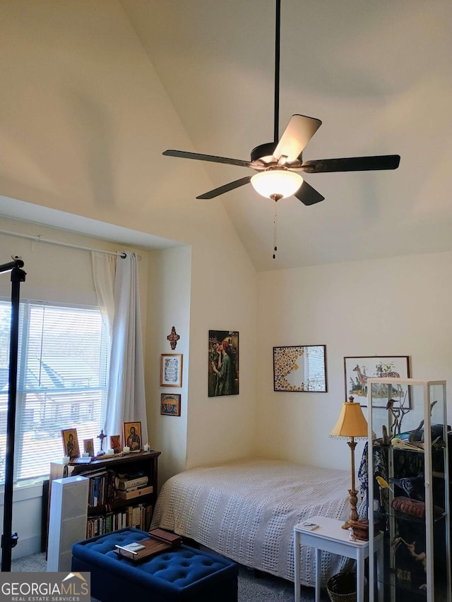
[(141, 562), (114, 546), (147, 539), (139, 529), (119, 529), (72, 546), (72, 570), (91, 573), (91, 595), (102, 602), (237, 602), (239, 569), (231, 560), (179, 546)]

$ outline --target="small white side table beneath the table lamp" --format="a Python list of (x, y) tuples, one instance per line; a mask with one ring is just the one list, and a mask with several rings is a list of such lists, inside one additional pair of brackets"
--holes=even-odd
[[(294, 577), (295, 602), (300, 602), (300, 546), (311, 546), (316, 550), (316, 602), (320, 602), (321, 551), (332, 552), (356, 560), (357, 602), (364, 602), (364, 560), (369, 556), (369, 542), (350, 539), (350, 531), (343, 529), (343, 521), (327, 517), (309, 517), (307, 521), (319, 525), (314, 531), (302, 529), (302, 523), (294, 527)], [(383, 534), (375, 538), (377, 570), (383, 570)], [(380, 573), (381, 574), (381, 573)], [(373, 586), (370, 584), (370, 586)], [(383, 590), (379, 586), (379, 601), (383, 601)]]

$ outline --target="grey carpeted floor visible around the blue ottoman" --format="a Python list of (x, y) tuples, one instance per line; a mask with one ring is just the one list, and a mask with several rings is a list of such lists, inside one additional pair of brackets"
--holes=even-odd
[[(24, 556), (11, 562), (11, 572), (45, 572), (46, 570), (47, 563), (44, 553)], [(239, 602), (293, 602), (293, 599), (294, 584), (292, 582), (268, 574), (256, 577), (253, 570), (240, 567)], [(95, 598), (91, 598), (91, 600), (98, 602)], [(322, 591), (321, 601), (330, 601), (326, 591)], [(313, 588), (302, 588), (302, 602), (314, 602)]]

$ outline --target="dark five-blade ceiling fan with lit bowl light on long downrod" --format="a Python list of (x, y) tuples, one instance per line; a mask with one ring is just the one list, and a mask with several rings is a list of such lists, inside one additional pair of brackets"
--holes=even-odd
[[(376, 157), (350, 157), (342, 159), (316, 159), (304, 161), (302, 152), (314, 133), (321, 126), (320, 119), (304, 115), (292, 115), (289, 124), (278, 136), (279, 124), (279, 92), (280, 92), (280, 12), (281, 1), (276, 0), (275, 27), (275, 111), (273, 142), (256, 146), (251, 150), (251, 160), (229, 159), (215, 155), (202, 155), (198, 152), (184, 150), (165, 150), (163, 155), (198, 159), (214, 163), (226, 163), (239, 167), (251, 167), (256, 171), (254, 176), (244, 176), (233, 182), (214, 188), (196, 198), (215, 198), (223, 193), (239, 188), (251, 182), (261, 195), (275, 201), (287, 196), (295, 197), (304, 205), (314, 205), (325, 197), (299, 175), (318, 174), (327, 171), (369, 171), (376, 169), (397, 169), (400, 155), (379, 155)], [(275, 249), (276, 250), (276, 249)], [(273, 255), (274, 257), (275, 255)]]

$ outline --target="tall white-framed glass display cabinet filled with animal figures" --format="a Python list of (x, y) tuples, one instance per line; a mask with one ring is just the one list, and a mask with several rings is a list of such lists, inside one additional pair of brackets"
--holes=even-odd
[(452, 602), (446, 381), (369, 378), (367, 411), (370, 558), (374, 527), (383, 531), (378, 589), (385, 601)]

